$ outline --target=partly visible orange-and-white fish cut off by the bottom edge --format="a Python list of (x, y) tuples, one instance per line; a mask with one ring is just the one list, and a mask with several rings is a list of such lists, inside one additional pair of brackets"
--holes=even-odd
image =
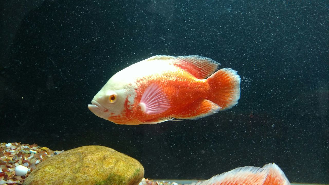
[(290, 182), (278, 165), (273, 163), (263, 168), (236, 168), (191, 185), (290, 185)]

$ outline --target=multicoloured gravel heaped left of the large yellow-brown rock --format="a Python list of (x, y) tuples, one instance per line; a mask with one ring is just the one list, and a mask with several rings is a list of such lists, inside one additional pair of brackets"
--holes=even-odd
[[(24, 179), (32, 172), (41, 161), (62, 153), (40, 147), (37, 144), (28, 145), (20, 143), (0, 144), (0, 185), (23, 184)], [(28, 168), (26, 175), (18, 176), (15, 167), (22, 165)]]

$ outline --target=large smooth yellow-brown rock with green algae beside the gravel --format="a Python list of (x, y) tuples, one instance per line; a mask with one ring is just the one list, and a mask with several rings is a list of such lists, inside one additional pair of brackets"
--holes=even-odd
[(105, 146), (82, 146), (41, 162), (23, 185), (137, 185), (143, 166)]

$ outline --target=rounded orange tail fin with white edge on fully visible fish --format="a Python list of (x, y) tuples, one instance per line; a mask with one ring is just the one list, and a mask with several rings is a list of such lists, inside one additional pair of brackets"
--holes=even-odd
[(240, 99), (240, 76), (231, 68), (223, 68), (216, 71), (207, 82), (210, 87), (206, 99), (219, 105), (220, 111), (227, 110), (238, 104)]

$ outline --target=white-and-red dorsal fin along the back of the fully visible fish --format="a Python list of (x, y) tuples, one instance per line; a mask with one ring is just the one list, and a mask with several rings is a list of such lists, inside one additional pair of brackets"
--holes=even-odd
[(218, 62), (207, 57), (201, 57), (198, 55), (189, 56), (167, 56), (167, 55), (156, 55), (146, 59), (145, 61), (152, 60), (170, 60), (172, 64), (178, 66), (198, 79), (205, 79), (212, 75), (220, 65)]

